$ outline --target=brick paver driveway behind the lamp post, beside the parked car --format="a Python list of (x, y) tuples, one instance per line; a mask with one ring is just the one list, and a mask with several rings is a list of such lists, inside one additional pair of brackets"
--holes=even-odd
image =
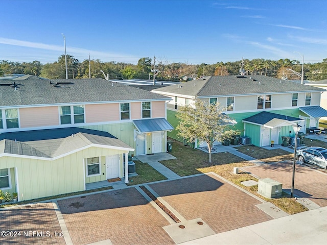
[[(293, 162), (253, 165), (243, 167), (259, 178), (270, 178), (281, 182), (283, 189), (291, 189)], [(296, 164), (294, 178), (294, 194), (311, 199), (320, 207), (327, 206), (327, 175), (307, 166)]]

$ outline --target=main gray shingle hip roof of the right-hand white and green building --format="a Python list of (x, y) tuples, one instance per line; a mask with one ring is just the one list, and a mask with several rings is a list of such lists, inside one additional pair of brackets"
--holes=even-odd
[[(300, 91), (324, 91), (308, 85), (297, 84), (287, 80), (275, 79), (266, 76), (212, 76), (205, 80), (195, 80), (172, 85), (154, 91), (192, 95), (198, 97), (224, 96), (258, 93), (285, 93)], [(251, 79), (250, 79), (251, 78)], [(199, 84), (199, 86), (194, 86)]]

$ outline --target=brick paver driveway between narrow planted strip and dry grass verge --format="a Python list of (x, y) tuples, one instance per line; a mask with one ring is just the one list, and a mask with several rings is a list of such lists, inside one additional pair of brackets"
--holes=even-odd
[(214, 175), (149, 186), (185, 219), (202, 218), (216, 233), (272, 219), (254, 206), (262, 202)]

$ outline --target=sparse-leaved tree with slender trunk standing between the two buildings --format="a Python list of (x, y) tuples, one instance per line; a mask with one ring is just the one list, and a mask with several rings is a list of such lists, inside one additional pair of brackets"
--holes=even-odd
[(215, 141), (222, 141), (240, 134), (230, 128), (230, 117), (219, 103), (209, 104), (197, 99), (194, 104), (179, 108), (176, 117), (180, 119), (176, 130), (177, 136), (194, 142), (195, 139), (205, 141), (208, 145), (209, 162), (212, 162), (211, 150)]

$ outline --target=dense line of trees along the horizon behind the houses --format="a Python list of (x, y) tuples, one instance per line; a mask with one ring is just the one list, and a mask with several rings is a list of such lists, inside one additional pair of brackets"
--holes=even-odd
[[(80, 62), (72, 55), (67, 55), (68, 78), (104, 78), (109, 79), (153, 79), (156, 80), (185, 81), (201, 76), (227, 76), (227, 75), (264, 75), (278, 79), (300, 80), (302, 64), (298, 60), (240, 60), (235, 62), (217, 62), (215, 64), (189, 64), (170, 63), (168, 60), (159, 60), (153, 67), (152, 59), (144, 57), (137, 64), (124, 62), (102, 62), (84, 60)], [(89, 72), (90, 71), (90, 72)], [(103, 71), (103, 72), (102, 72)], [(303, 64), (304, 79), (319, 81), (327, 79), (327, 59), (319, 63)], [(296, 74), (297, 73), (297, 74)], [(0, 76), (11, 74), (26, 74), (40, 76), (48, 79), (66, 78), (65, 56), (61, 55), (58, 61), (41, 64), (40, 61), (12, 62), (0, 60)]]

